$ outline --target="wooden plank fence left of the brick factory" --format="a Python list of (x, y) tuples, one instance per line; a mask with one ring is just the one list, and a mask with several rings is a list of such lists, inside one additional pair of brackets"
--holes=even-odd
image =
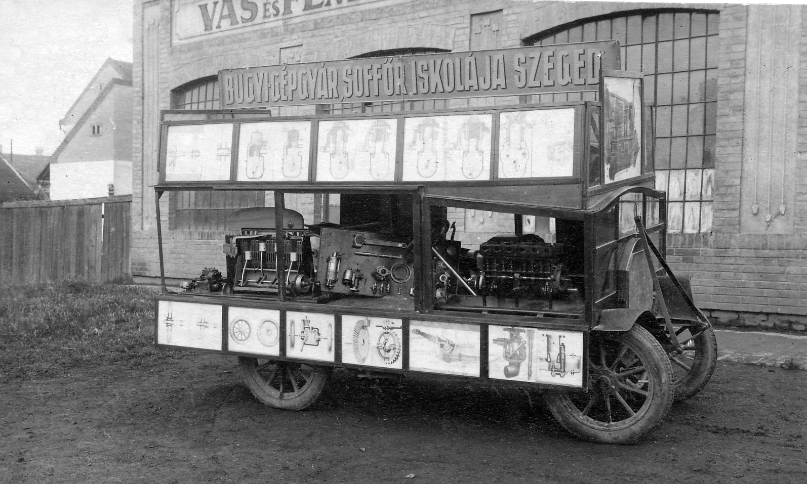
[(129, 277), (132, 195), (0, 204), (0, 281)]

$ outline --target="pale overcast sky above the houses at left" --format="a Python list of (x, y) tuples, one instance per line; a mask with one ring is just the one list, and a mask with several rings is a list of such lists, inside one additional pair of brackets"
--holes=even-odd
[(0, 0), (0, 144), (49, 155), (107, 57), (132, 61), (131, 0)]

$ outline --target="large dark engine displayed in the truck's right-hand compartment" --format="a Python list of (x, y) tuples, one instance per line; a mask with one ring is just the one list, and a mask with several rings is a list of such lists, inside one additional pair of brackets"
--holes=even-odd
[(560, 261), (562, 253), (562, 244), (547, 244), (534, 235), (496, 236), (480, 244), (477, 268), (483, 306), (493, 294), (515, 299), (516, 307), (521, 298), (546, 298), (552, 309), (555, 298), (577, 290)]

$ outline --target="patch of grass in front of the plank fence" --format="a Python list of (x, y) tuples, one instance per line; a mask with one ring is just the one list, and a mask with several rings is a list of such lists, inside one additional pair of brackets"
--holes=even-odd
[(168, 356), (153, 346), (153, 333), (153, 290), (85, 282), (0, 286), (0, 377)]

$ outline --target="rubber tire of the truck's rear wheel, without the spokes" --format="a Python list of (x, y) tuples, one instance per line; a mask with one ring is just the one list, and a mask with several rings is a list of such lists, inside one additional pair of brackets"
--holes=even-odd
[[(266, 364), (273, 365), (272, 361)], [(305, 365), (300, 363), (288, 363), (286, 361), (274, 361), (278, 371), (282, 368), (291, 368), (292, 371), (302, 367), (307, 367), (311, 371), (311, 378), (296, 392), (284, 392), (283, 394), (274, 386), (271, 386), (261, 375), (257, 358), (239, 357), (238, 365), (244, 382), (249, 387), (255, 398), (267, 407), (280, 408), (282, 410), (299, 411), (311, 407), (316, 398), (319, 398), (325, 383), (328, 382), (330, 370), (326, 367)]]

